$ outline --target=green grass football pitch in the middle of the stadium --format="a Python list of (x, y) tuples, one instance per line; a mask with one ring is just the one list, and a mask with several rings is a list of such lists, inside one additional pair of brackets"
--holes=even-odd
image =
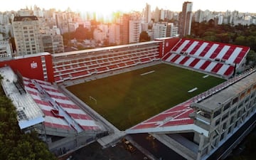
[[(125, 130), (225, 81), (204, 76), (161, 63), (67, 89), (115, 127)], [(198, 89), (188, 93), (195, 87)]]

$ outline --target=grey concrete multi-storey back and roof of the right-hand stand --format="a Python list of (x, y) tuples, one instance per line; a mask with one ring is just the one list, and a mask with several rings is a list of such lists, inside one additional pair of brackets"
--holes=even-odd
[[(248, 129), (253, 124), (250, 121), (255, 120), (252, 118), (256, 110), (255, 93), (256, 73), (252, 73), (215, 95), (191, 104), (196, 110), (195, 114), (191, 114), (194, 124), (207, 133), (195, 134), (198, 159), (208, 157), (221, 146), (233, 148), (250, 132)], [(223, 154), (229, 154), (229, 149), (226, 150)]]

